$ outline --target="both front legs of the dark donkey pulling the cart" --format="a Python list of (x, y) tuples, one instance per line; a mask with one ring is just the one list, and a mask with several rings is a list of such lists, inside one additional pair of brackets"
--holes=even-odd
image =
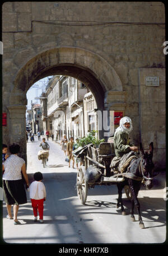
[[(134, 205), (135, 205), (135, 207), (137, 208), (137, 212), (138, 212), (139, 227), (144, 228), (144, 224), (143, 224), (142, 217), (141, 217), (141, 212), (140, 212), (140, 205), (139, 205), (139, 201), (138, 201), (138, 198), (137, 198), (138, 191), (139, 191), (138, 190), (139, 189), (139, 183), (137, 181), (133, 181), (132, 179), (129, 179), (128, 183), (129, 183), (130, 191), (132, 193), (132, 210), (131, 210), (132, 215), (131, 215), (131, 218), (134, 217), (133, 208), (134, 208)], [(138, 189), (135, 188), (136, 186), (138, 186)]]

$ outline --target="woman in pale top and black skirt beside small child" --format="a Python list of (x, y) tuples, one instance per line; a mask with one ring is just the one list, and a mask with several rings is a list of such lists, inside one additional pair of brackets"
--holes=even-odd
[[(26, 173), (25, 160), (18, 157), (20, 152), (20, 145), (13, 143), (9, 147), (11, 156), (3, 163), (3, 197), (7, 207), (7, 218), (14, 220), (14, 224), (20, 224), (17, 220), (17, 213), (20, 204), (26, 204), (26, 191), (22, 175), (26, 181), (26, 185), (29, 188), (29, 179)], [(13, 205), (13, 217), (11, 208)]]

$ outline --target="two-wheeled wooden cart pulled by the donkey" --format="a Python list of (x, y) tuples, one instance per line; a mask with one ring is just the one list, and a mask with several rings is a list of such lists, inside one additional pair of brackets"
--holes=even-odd
[[(101, 143), (99, 148), (93, 144), (74, 150), (73, 155), (80, 157), (82, 166), (77, 172), (77, 195), (82, 204), (86, 203), (88, 188), (95, 185), (113, 185), (124, 180), (122, 176), (113, 177), (110, 163), (115, 157), (113, 143)], [(129, 186), (124, 186), (125, 194), (130, 199)]]

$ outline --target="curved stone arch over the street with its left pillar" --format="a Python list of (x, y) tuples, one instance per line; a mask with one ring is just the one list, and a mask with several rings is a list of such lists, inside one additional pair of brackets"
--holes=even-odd
[[(26, 159), (26, 93), (36, 81), (50, 75), (68, 75), (81, 80), (94, 94), (99, 110), (109, 109), (111, 92), (122, 93), (122, 83), (111, 65), (98, 54), (81, 48), (53, 48), (32, 57), (17, 72), (6, 106), (10, 124), (8, 141), (18, 141)], [(106, 104), (105, 104), (106, 103)]]

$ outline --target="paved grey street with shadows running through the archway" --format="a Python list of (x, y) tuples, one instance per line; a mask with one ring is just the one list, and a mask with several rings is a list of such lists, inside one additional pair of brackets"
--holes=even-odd
[[(122, 216), (116, 209), (118, 197), (116, 185), (96, 186), (88, 191), (86, 205), (77, 198), (77, 169), (68, 168), (68, 163), (59, 144), (49, 140), (50, 156), (43, 168), (38, 160), (39, 141), (27, 143), (27, 173), (30, 180), (36, 171), (44, 175), (46, 201), (44, 223), (34, 222), (29, 193), (27, 204), (20, 205), (18, 220), (13, 225), (6, 218), (3, 204), (3, 235), (7, 243), (163, 243), (166, 238), (165, 192), (160, 180), (155, 180), (152, 190), (139, 191), (142, 218), (146, 228), (141, 230), (138, 221), (130, 222), (130, 215)], [(71, 163), (72, 164), (72, 163)], [(130, 202), (123, 194), (124, 205), (129, 212)], [(136, 220), (137, 214), (135, 214)]]

